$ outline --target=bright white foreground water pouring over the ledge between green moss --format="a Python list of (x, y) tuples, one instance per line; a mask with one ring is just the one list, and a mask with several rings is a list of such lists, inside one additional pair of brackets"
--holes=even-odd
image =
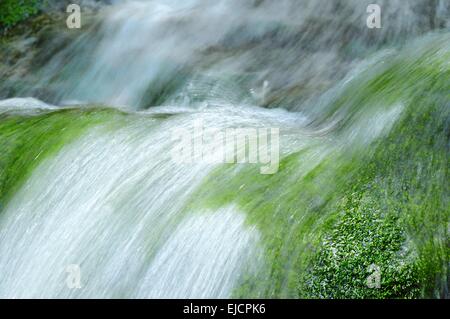
[[(44, 161), (0, 216), (0, 296), (230, 297), (250, 258), (251, 271), (262, 267), (258, 232), (234, 207), (186, 211), (216, 165), (174, 164), (171, 128), (191, 130), (200, 117), (215, 127), (280, 125), (284, 113), (256, 111), (163, 122), (147, 114), (123, 128), (95, 128)], [(298, 119), (281, 118), (285, 127)], [(66, 284), (73, 264), (81, 289)]]

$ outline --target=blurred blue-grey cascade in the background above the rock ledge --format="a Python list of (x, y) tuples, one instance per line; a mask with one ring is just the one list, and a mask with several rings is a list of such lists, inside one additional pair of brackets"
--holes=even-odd
[[(367, 53), (448, 24), (442, 1), (379, 1), (383, 28), (369, 29), (370, 3), (117, 2), (42, 67), (36, 85), (53, 87), (57, 99), (47, 102), (54, 103), (139, 108), (225, 99), (299, 108)], [(260, 87), (264, 101), (251, 94)]]

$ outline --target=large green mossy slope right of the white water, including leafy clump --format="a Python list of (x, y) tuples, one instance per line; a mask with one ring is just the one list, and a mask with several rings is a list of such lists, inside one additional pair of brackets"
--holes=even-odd
[[(261, 233), (266, 265), (243, 278), (235, 297), (443, 296), (446, 39), (432, 39), (426, 50), (405, 51), (356, 77), (311, 123), (312, 129), (337, 123), (328, 138), (313, 138), (283, 158), (278, 173), (228, 165), (205, 180), (191, 206), (233, 203)], [(396, 105), (402, 105), (400, 118), (378, 138), (349, 138), (361, 127), (373, 135), (370, 120)], [(381, 268), (380, 289), (365, 285), (371, 264)]]

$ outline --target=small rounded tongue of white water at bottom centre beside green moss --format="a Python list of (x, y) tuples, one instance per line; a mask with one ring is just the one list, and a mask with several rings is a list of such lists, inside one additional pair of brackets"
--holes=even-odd
[(158, 250), (136, 296), (229, 298), (244, 270), (263, 262), (258, 233), (244, 220), (234, 207), (188, 217)]

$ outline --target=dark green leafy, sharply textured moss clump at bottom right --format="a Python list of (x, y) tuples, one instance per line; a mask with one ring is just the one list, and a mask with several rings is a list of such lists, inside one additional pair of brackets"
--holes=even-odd
[[(325, 235), (300, 291), (312, 298), (419, 297), (419, 265), (406, 242), (399, 211), (386, 207), (371, 192), (341, 204), (337, 224)], [(376, 268), (370, 268), (374, 265)], [(379, 271), (379, 287), (367, 280)]]

